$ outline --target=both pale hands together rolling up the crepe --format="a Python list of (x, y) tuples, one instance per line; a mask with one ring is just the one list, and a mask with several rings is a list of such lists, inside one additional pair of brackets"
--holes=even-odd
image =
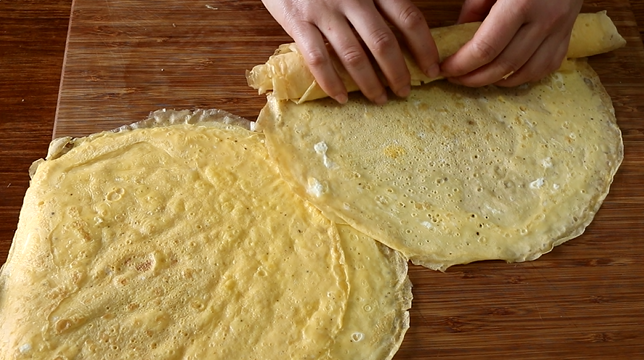
[[(325, 43), (338, 54), (362, 93), (384, 104), (387, 92), (369, 56), (394, 94), (407, 96), (410, 76), (398, 39), (427, 76), (440, 74), (472, 87), (517, 86), (559, 68), (583, 0), (465, 0), (458, 22), (483, 23), (470, 42), (440, 64), (427, 22), (411, 0), (262, 2), (293, 38), (327, 94), (340, 103), (348, 98)], [(396, 38), (390, 25), (401, 37)]]

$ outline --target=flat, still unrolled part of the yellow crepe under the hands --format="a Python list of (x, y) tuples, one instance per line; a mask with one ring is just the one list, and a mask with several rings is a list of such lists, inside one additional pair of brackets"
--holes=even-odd
[(533, 260), (580, 235), (623, 158), (582, 60), (518, 88), (435, 82), (384, 106), (269, 95), (258, 128), (300, 196), (437, 270)]

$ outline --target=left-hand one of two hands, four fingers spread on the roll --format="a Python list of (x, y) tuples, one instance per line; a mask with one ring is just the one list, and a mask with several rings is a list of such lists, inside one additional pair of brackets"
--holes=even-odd
[[(409, 70), (388, 22), (400, 30), (416, 62), (427, 76), (436, 77), (440, 72), (438, 52), (429, 27), (420, 10), (410, 0), (262, 2), (295, 40), (322, 90), (340, 103), (347, 101), (347, 91), (332, 65), (325, 39), (362, 93), (377, 104), (387, 101), (387, 93), (365, 50), (373, 55), (396, 95), (405, 97), (410, 91)], [(363, 48), (358, 37), (367, 49)]]

